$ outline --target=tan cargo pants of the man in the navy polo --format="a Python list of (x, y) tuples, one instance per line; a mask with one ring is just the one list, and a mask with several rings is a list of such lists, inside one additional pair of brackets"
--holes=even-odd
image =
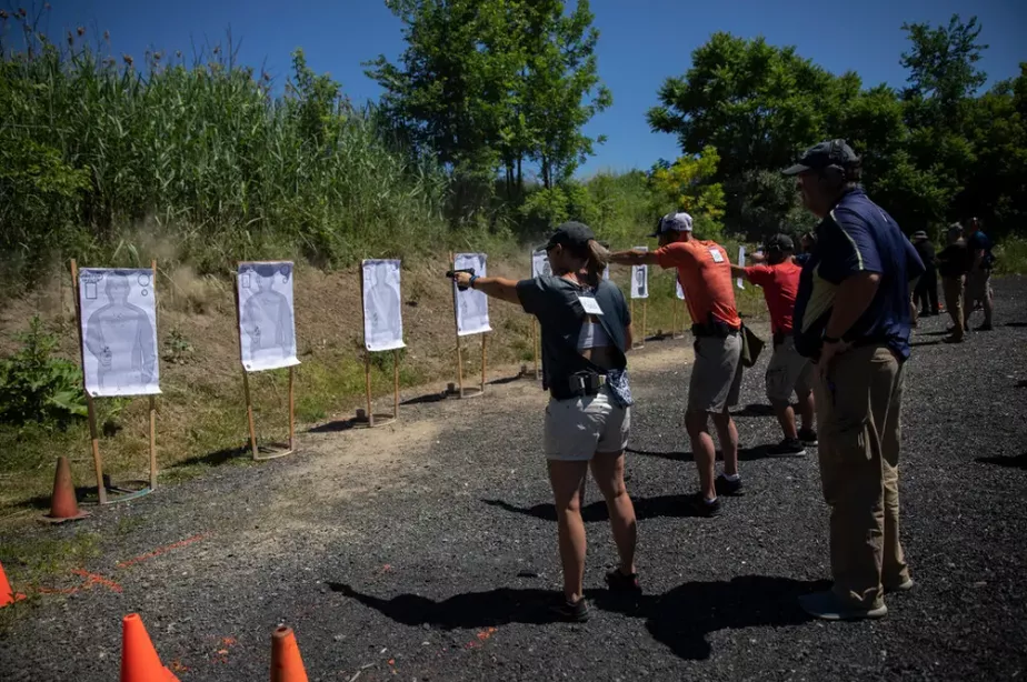
[(885, 585), (909, 579), (898, 522), (904, 383), (896, 355), (869, 345), (836, 357), (814, 391), (834, 591), (866, 609), (884, 603)]

